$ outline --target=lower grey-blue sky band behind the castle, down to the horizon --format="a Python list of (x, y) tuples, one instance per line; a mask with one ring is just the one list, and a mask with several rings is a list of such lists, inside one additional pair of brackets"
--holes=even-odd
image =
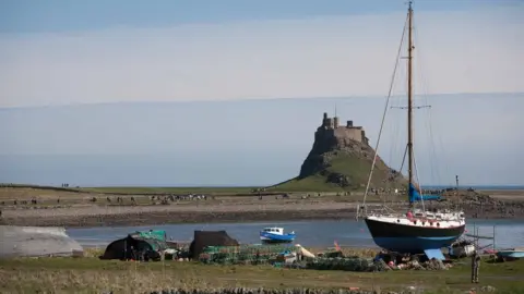
[[(524, 94), (416, 101), (432, 106), (415, 113), (422, 183), (453, 184), (455, 174), (469, 185), (524, 183)], [(333, 114), (335, 103), (341, 120), (364, 125), (374, 146), (382, 98), (0, 109), (0, 182), (272, 184), (298, 174), (322, 113)], [(405, 110), (392, 109), (379, 152), (394, 168), (405, 148)]]

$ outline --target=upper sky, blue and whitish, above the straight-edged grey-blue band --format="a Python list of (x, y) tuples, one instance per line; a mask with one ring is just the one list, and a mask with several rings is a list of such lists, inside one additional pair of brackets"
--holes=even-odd
[[(1, 1), (0, 107), (383, 96), (406, 14), (405, 0), (152, 3)], [(524, 91), (523, 3), (417, 1), (416, 90)]]

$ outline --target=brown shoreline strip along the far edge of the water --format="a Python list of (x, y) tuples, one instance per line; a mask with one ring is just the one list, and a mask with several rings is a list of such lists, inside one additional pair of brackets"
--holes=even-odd
[[(285, 206), (285, 205), (284, 205)], [(237, 207), (239, 210), (227, 209), (162, 209), (152, 211), (140, 207), (134, 211), (111, 211), (105, 209), (105, 213), (93, 213), (90, 208), (76, 208), (75, 215), (60, 213), (46, 209), (46, 216), (25, 215), (24, 211), (17, 216), (9, 213), (0, 219), (3, 225), (25, 225), (25, 226), (64, 226), (68, 229), (80, 228), (99, 228), (99, 226), (139, 226), (139, 225), (162, 225), (162, 224), (183, 224), (183, 223), (241, 223), (241, 222), (263, 222), (263, 221), (305, 221), (305, 220), (355, 220), (356, 209), (344, 207), (324, 207), (319, 209), (246, 209), (246, 206)], [(165, 208), (165, 207), (163, 207)], [(214, 207), (213, 208), (217, 208)], [(58, 209), (57, 209), (58, 210)], [(83, 210), (83, 211), (79, 211)], [(222, 211), (218, 211), (222, 210)], [(11, 211), (13, 212), (13, 211)], [(52, 213), (57, 212), (57, 213)], [(63, 212), (63, 211), (61, 211)], [(86, 213), (90, 212), (90, 213)], [(24, 216), (25, 215), (25, 216)], [(465, 211), (467, 219), (510, 219), (524, 220), (524, 215), (500, 215), (500, 213), (478, 213), (476, 211)]]

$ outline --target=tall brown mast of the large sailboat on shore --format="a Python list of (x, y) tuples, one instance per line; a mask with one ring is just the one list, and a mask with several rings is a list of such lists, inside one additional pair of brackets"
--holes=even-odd
[(413, 184), (413, 85), (412, 85), (412, 72), (413, 72), (413, 9), (412, 1), (409, 1), (408, 8), (408, 45), (407, 45), (407, 159), (409, 174), (409, 184)]

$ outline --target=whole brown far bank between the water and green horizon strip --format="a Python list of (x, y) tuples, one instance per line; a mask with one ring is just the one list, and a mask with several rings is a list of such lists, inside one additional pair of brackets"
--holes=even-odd
[[(468, 218), (524, 219), (524, 191), (487, 192), (455, 200)], [(0, 223), (67, 228), (153, 225), (199, 222), (249, 222), (353, 219), (361, 193), (352, 195), (295, 193), (252, 196), (106, 195), (37, 188), (0, 188)], [(511, 197), (510, 197), (511, 196)], [(385, 200), (385, 199), (382, 199)], [(371, 205), (379, 205), (380, 197)], [(390, 201), (401, 206), (402, 201)]]

